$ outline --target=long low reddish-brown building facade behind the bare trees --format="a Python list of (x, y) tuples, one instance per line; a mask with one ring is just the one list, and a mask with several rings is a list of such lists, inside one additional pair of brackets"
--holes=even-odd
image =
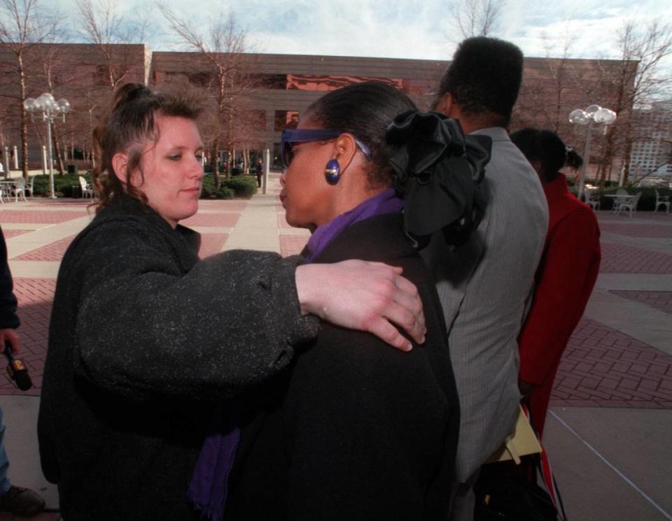
[[(48, 51), (48, 52), (46, 52)], [(50, 54), (49, 54), (50, 53)], [(90, 131), (94, 114), (109, 98), (112, 87), (140, 81), (162, 88), (189, 87), (210, 99), (216, 94), (216, 70), (195, 52), (151, 52), (145, 45), (89, 44), (37, 45), (30, 50), (27, 94), (37, 97), (51, 90), (57, 99), (69, 99), (72, 113), (55, 125), (62, 148), (90, 159)], [(49, 55), (49, 59), (45, 59)], [(48, 64), (49, 67), (46, 67)], [(421, 109), (433, 99), (433, 91), (449, 62), (421, 59), (334, 57), (314, 55), (245, 55), (245, 88), (232, 88), (230, 114), (223, 125), (219, 149), (232, 145), (241, 150), (269, 148), (277, 158), (281, 130), (292, 127), (307, 107), (323, 92), (349, 83), (379, 80), (395, 85)], [(514, 111), (512, 129), (523, 126), (551, 128), (567, 143), (581, 150), (584, 128), (576, 129), (567, 115), (577, 107), (610, 105), (612, 93), (600, 71), (605, 60), (526, 58), (524, 84)], [(49, 71), (49, 74), (45, 71)], [(50, 78), (48, 77), (50, 76)], [(20, 145), (19, 101), (13, 57), (0, 47), (0, 145)], [(48, 87), (48, 79), (52, 87)], [(234, 100), (235, 96), (235, 101)], [(210, 109), (210, 116), (216, 113)], [(622, 117), (622, 115), (619, 115)], [(224, 119), (224, 117), (223, 117)], [(29, 125), (29, 159), (44, 143), (44, 124)], [(222, 128), (222, 125), (220, 125)], [(214, 138), (214, 125), (204, 125), (204, 138)], [(593, 160), (599, 158), (603, 136), (594, 138)], [(71, 159), (71, 157), (69, 157)]]

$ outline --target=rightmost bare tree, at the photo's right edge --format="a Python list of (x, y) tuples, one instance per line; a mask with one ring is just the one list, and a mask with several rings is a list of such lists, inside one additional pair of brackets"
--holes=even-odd
[(638, 110), (653, 99), (669, 93), (670, 72), (664, 69), (666, 57), (672, 55), (672, 25), (659, 21), (638, 26), (628, 20), (617, 33), (620, 66), (603, 70), (605, 89), (615, 93), (612, 110), (618, 114), (605, 143), (604, 159), (599, 170), (604, 183), (617, 152), (622, 152), (623, 182), (629, 176), (634, 141), (649, 135), (652, 129), (640, 124)]

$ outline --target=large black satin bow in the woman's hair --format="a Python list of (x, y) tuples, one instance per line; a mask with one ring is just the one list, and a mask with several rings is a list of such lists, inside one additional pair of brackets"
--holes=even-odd
[(394, 118), (386, 141), (395, 187), (405, 194), (407, 234), (423, 248), (436, 231), (447, 243), (465, 242), (486, 206), (480, 183), (490, 160), (492, 140), (465, 136), (457, 120), (409, 110)]

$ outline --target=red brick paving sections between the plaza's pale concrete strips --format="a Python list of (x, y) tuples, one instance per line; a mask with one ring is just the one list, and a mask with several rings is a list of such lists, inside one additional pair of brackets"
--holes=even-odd
[[(16, 261), (58, 262), (73, 240), (74, 235), (42, 245), (34, 250), (22, 253), (22, 255), (12, 254), (12, 241), (17, 236), (34, 233), (36, 229), (41, 229), (41, 227), (50, 227), (87, 215), (87, 207), (90, 206), (90, 203), (78, 203), (76, 200), (69, 201), (69, 203), (61, 201), (55, 203), (34, 199), (29, 204), (16, 204), (15, 208), (11, 208), (11, 206), (11, 204), (6, 204), (0, 210), (0, 219), (2, 220), (0, 224), (5, 224), (5, 222), (13, 224), (11, 229), (5, 230), (10, 263)], [(64, 211), (65, 207), (78, 208), (78, 211), (70, 209)], [(235, 228), (239, 216), (245, 208), (246, 201), (202, 201), (200, 212), (184, 221), (186, 226), (193, 227), (202, 234), (201, 257), (213, 255), (223, 249), (230, 229)], [(282, 255), (294, 255), (300, 252), (307, 242), (307, 236), (283, 234), (283, 231), (291, 230), (291, 227), (284, 218), (284, 210), (281, 205), (276, 206), (276, 213)], [(605, 230), (609, 230), (610, 235), (622, 234), (626, 237), (645, 236), (649, 238), (668, 238), (671, 236), (672, 218), (665, 222), (656, 219), (656, 216), (648, 217), (650, 218), (645, 222), (631, 224), (630, 222), (624, 222), (625, 218), (622, 216), (613, 219), (609, 215), (605, 215), (605, 217), (601, 217), (601, 224)], [(30, 226), (27, 229), (22, 229), (22, 224)], [(672, 273), (672, 255), (607, 242), (603, 238), (602, 271), (605, 273)], [(55, 280), (53, 278), (17, 277), (15, 278), (15, 286), (20, 301), (19, 313), (23, 324), (21, 331), (25, 345), (24, 359), (29, 365), (35, 384), (30, 394), (38, 395)], [(658, 308), (671, 315), (672, 320), (672, 292), (612, 291), (612, 293)], [(615, 337), (617, 337), (616, 345), (608, 344), (608, 339)], [(584, 349), (586, 346), (592, 347), (592, 349)], [(628, 369), (623, 371), (623, 362), (621, 364), (610, 364), (614, 357), (630, 360), (643, 356), (640, 353), (641, 349), (652, 350), (653, 356), (657, 358), (658, 362), (654, 364), (654, 369), (650, 369), (650, 371), (656, 372), (642, 374), (637, 371), (640, 368), (638, 365), (628, 366)], [(603, 351), (598, 352), (598, 350)], [(615, 354), (615, 350), (619, 351), (618, 355)], [(589, 401), (592, 406), (672, 408), (672, 394), (668, 391), (670, 383), (672, 383), (671, 357), (665, 353), (656, 355), (654, 353), (656, 351), (655, 348), (614, 331), (600, 322), (584, 319), (577, 327), (577, 331), (575, 331), (563, 358), (559, 377), (556, 380), (556, 389), (552, 396), (552, 404), (586, 406), (587, 401)], [(598, 359), (601, 360), (602, 357), (605, 357), (606, 361), (599, 362)], [(665, 371), (661, 372), (661, 368), (665, 368)], [(591, 374), (591, 371), (596, 371), (596, 373)], [(662, 386), (661, 396), (634, 389), (633, 392), (641, 393), (641, 396), (637, 397), (636, 394), (625, 393), (619, 385), (612, 385), (612, 382), (620, 381), (624, 377), (624, 372), (626, 376), (629, 373), (629, 379), (626, 378), (625, 382), (619, 385), (629, 385), (628, 382), (635, 380), (643, 381), (643, 385), (647, 385), (647, 389), (654, 392), (659, 392), (658, 388)], [(601, 379), (605, 379), (605, 383), (594, 384)], [(653, 382), (657, 383), (656, 388), (650, 389), (654, 385)], [(18, 390), (15, 390), (8, 377), (3, 374), (0, 379), (0, 394), (14, 393), (18, 393)]]

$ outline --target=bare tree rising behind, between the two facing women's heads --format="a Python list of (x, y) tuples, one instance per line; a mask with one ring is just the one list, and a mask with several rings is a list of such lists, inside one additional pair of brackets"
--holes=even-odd
[(215, 168), (214, 178), (220, 185), (216, 168), (216, 157), (220, 143), (225, 142), (228, 153), (228, 171), (230, 175), (235, 148), (239, 145), (239, 131), (246, 126), (248, 93), (253, 86), (253, 55), (249, 53), (245, 31), (239, 29), (235, 16), (229, 13), (221, 15), (210, 25), (206, 34), (175, 15), (167, 6), (160, 6), (169, 27), (183, 41), (188, 49), (200, 53), (202, 60), (197, 66), (199, 71), (190, 78), (209, 93), (214, 105), (213, 136), (211, 154)]

